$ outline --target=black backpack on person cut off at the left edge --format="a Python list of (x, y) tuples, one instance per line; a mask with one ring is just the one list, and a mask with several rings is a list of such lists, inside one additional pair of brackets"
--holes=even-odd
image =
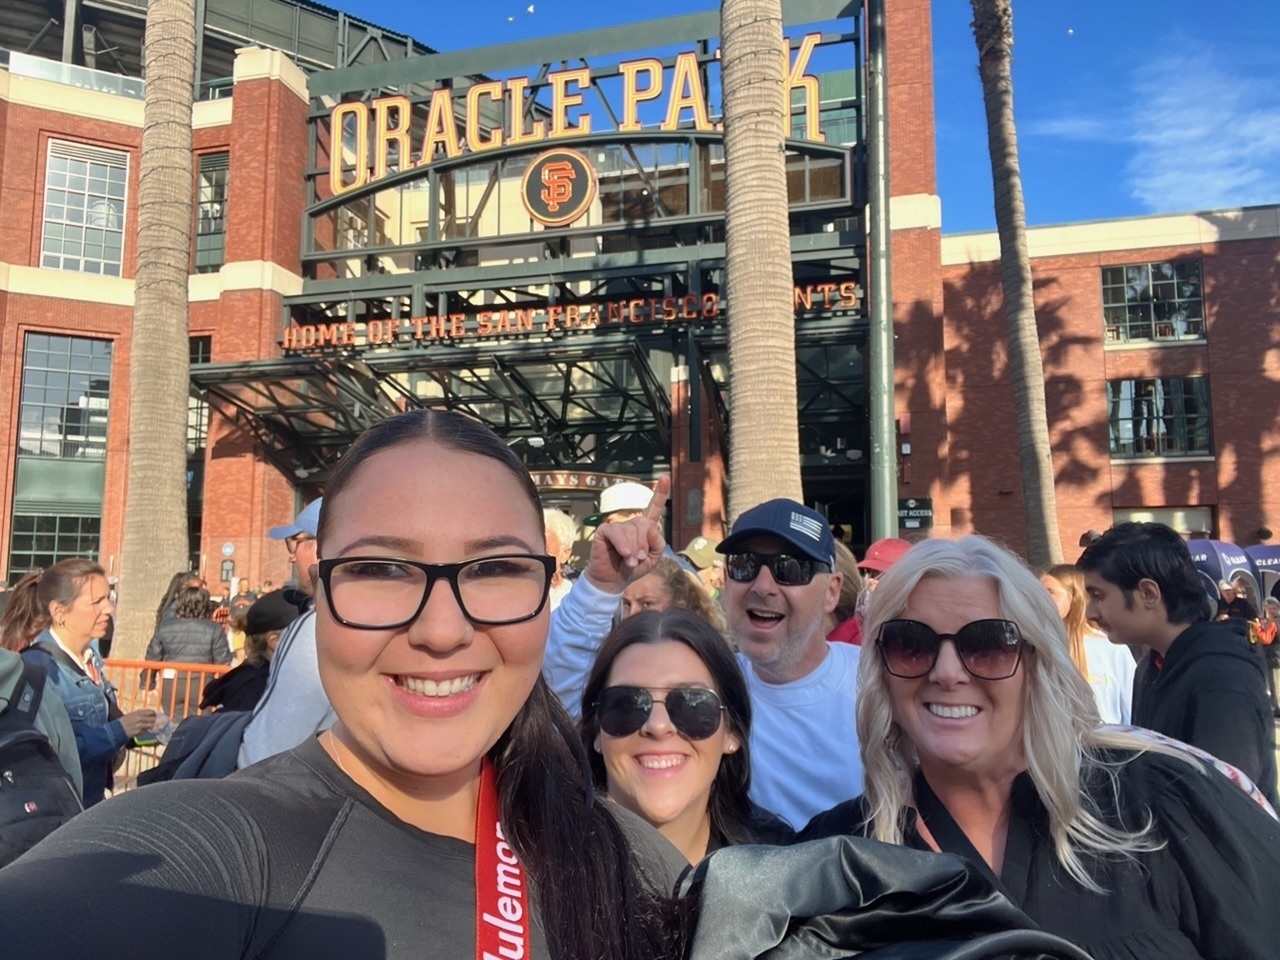
[(22, 677), (0, 713), (0, 867), (78, 814), (83, 805), (49, 737), (36, 730), (45, 671), (23, 660)]

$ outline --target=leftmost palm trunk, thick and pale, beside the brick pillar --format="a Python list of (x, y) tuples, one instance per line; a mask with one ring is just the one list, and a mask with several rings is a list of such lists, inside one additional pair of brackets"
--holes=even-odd
[(143, 42), (138, 269), (129, 346), (129, 466), (115, 649), (141, 657), (155, 605), (187, 566), (187, 264), (195, 0), (150, 0)]

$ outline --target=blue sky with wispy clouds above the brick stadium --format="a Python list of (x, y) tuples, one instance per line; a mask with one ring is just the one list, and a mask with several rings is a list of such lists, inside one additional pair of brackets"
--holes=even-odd
[[(438, 50), (716, 6), (708, 0), (532, 3), (532, 13), (530, 0), (335, 5)], [(933, 0), (946, 233), (995, 225), (970, 19), (965, 0)], [(1280, 202), (1276, 0), (1015, 0), (1014, 31), (1029, 223)]]

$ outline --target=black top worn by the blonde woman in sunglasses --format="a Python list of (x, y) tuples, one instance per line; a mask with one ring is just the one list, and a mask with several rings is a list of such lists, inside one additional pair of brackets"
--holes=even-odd
[[(1117, 791), (1098, 777), (1089, 792), (1112, 826), (1140, 828), (1149, 815), (1164, 846), (1087, 861), (1105, 893), (1082, 886), (1059, 864), (1048, 812), (1025, 773), (1014, 781), (998, 877), (920, 776), (915, 801), (945, 852), (973, 863), (1043, 929), (1094, 960), (1275, 960), (1280, 910), (1271, 901), (1280, 890), (1280, 823), (1215, 769), (1199, 773), (1155, 753), (1130, 756), (1108, 756), (1120, 764)], [(865, 836), (865, 819), (858, 797), (814, 817), (800, 840)], [(908, 824), (908, 846), (928, 850), (914, 814)]]

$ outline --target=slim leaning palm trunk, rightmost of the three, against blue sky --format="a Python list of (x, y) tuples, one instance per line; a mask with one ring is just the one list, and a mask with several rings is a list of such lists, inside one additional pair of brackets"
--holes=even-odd
[(1062, 562), (1053, 495), (1053, 453), (1044, 407), (1044, 365), (1036, 326), (1032, 264), (1027, 253), (1027, 206), (1014, 124), (1014, 12), (1011, 0), (970, 0), (978, 73), (987, 110), (987, 146), (996, 192), (1000, 280), (1009, 321), (1009, 369), (1018, 411), (1018, 460), (1032, 566)]

